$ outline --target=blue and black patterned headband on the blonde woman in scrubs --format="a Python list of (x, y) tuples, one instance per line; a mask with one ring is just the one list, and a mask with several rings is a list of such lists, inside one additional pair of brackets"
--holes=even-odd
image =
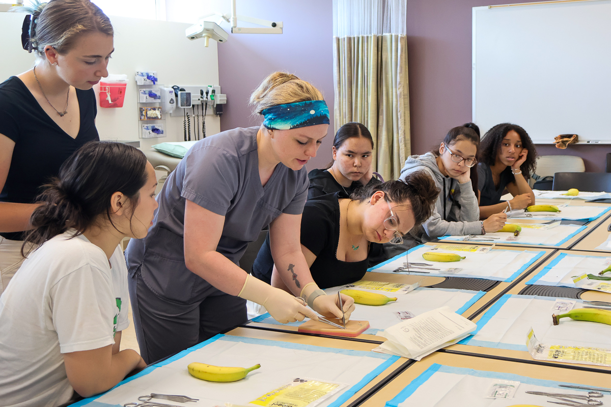
[(316, 124), (329, 124), (329, 108), (324, 100), (279, 104), (264, 109), (263, 126), (272, 130), (290, 130)]

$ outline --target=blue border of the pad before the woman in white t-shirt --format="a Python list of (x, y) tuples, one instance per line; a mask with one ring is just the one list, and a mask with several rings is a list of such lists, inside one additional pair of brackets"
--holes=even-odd
[[(148, 373), (153, 372), (153, 370), (157, 369), (158, 367), (166, 366), (167, 364), (177, 361), (178, 359), (184, 358), (186, 355), (188, 355), (192, 351), (203, 348), (206, 345), (209, 345), (216, 340), (227, 340), (229, 342), (244, 342), (247, 344), (277, 346), (277, 347), (288, 348), (288, 349), (309, 350), (313, 352), (338, 353), (340, 355), (367, 356), (368, 358), (386, 359), (386, 362), (382, 363), (380, 366), (372, 370), (370, 373), (367, 373), (367, 375), (365, 375), (364, 378), (362, 378), (359, 381), (359, 383), (355, 384), (354, 386), (350, 387), (348, 390), (344, 391), (342, 395), (340, 395), (340, 397), (337, 400), (335, 400), (335, 402), (331, 403), (328, 407), (337, 407), (337, 406), (342, 405), (346, 400), (348, 400), (348, 398), (352, 397), (356, 392), (362, 389), (373, 378), (378, 376), (380, 373), (384, 372), (384, 370), (388, 369), (389, 366), (391, 366), (394, 362), (398, 361), (399, 359), (399, 356), (386, 355), (385, 353), (377, 353), (377, 352), (371, 352), (371, 351), (325, 348), (325, 347), (320, 347), (320, 346), (315, 346), (315, 345), (303, 345), (303, 344), (294, 344), (292, 342), (281, 342), (279, 340), (256, 339), (256, 338), (249, 338), (249, 337), (242, 337), (242, 336), (218, 334), (216, 336), (211, 337), (208, 340), (201, 342), (200, 344), (195, 345), (194, 347), (178, 352), (176, 355), (172, 356), (171, 358), (168, 358), (164, 361), (156, 363), (153, 366), (147, 367), (147, 369), (142, 370), (142, 372), (137, 373), (137, 375), (133, 375), (129, 378), (126, 378), (125, 380), (117, 384), (117, 386), (112, 387), (112, 389), (115, 389), (116, 387), (119, 387), (122, 384), (128, 383), (139, 377), (148, 375)], [(110, 389), (109, 391), (112, 391), (112, 389)], [(70, 407), (82, 407), (82, 406), (115, 407), (115, 405), (110, 405), (110, 404), (100, 403), (100, 402), (95, 401), (97, 398), (100, 398), (101, 396), (103, 396), (106, 393), (107, 392), (104, 392), (102, 394), (98, 394), (93, 397), (84, 398), (83, 400), (79, 402), (71, 404)], [(348, 397), (346, 397), (346, 394), (349, 394)], [(343, 400), (343, 401), (337, 404), (340, 400)]]

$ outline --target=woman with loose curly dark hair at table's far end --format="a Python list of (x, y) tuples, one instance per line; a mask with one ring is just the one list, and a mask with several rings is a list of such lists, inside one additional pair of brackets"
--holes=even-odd
[[(480, 219), (503, 209), (524, 209), (535, 204), (527, 179), (535, 171), (536, 149), (524, 129), (516, 124), (497, 124), (482, 137), (479, 152)], [(505, 188), (513, 199), (501, 202)]]

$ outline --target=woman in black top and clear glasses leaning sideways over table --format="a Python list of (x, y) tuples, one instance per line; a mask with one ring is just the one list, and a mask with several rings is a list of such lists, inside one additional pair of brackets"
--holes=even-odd
[[(369, 251), (403, 242), (403, 235), (431, 216), (438, 194), (433, 179), (417, 171), (405, 181), (369, 185), (349, 198), (338, 192), (307, 201), (301, 250), (315, 283), (326, 289), (362, 278)], [(284, 288), (275, 267), (271, 282)]]

